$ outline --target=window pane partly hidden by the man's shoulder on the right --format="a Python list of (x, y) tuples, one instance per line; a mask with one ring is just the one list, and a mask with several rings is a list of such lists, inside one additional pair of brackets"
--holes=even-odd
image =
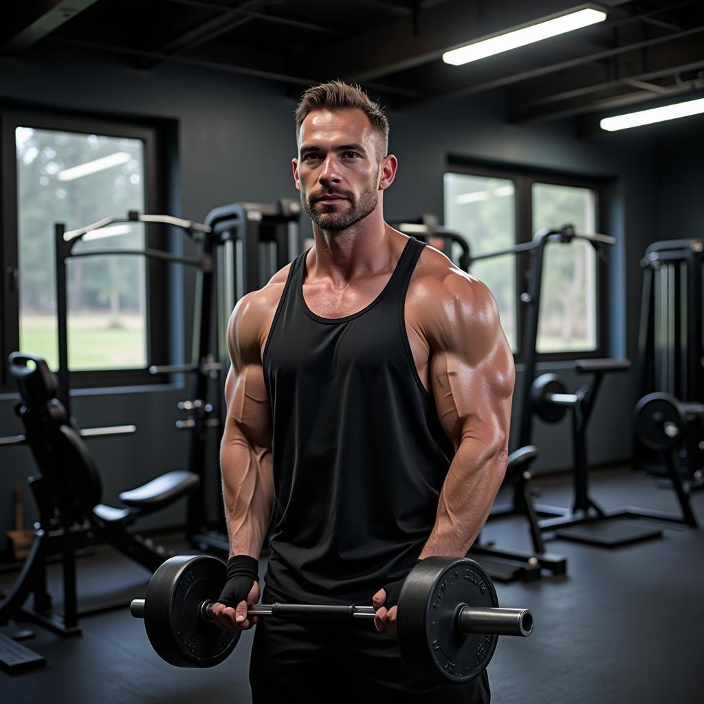
[[(447, 173), (444, 177), (445, 226), (463, 234), (472, 255), (505, 249), (516, 242), (513, 181)], [(472, 264), (496, 298), (501, 325), (513, 351), (516, 339), (516, 260), (512, 254)]]

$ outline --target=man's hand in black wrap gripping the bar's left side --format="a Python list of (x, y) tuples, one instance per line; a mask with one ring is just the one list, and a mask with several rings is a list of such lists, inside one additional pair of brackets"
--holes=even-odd
[(227, 560), (227, 582), (213, 604), (213, 622), (225, 631), (246, 631), (257, 622), (247, 618), (247, 605), (259, 601), (258, 562), (250, 555)]

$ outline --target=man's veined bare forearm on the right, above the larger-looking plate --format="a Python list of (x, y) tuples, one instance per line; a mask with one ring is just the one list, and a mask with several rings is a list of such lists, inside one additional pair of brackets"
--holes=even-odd
[(421, 558), (465, 555), (477, 539), (506, 471), (505, 446), (463, 441), (440, 492), (435, 524)]

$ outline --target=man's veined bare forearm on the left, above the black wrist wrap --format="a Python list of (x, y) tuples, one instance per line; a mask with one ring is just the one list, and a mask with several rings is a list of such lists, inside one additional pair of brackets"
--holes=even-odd
[(252, 448), (244, 438), (223, 438), (222, 496), (230, 555), (259, 559), (274, 501), (270, 448)]

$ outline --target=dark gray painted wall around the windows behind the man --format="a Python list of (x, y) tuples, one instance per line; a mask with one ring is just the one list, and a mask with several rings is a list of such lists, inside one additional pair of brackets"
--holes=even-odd
[[(0, 100), (29, 101), (75, 113), (173, 120), (178, 135), (175, 172), (180, 182), (172, 195), (187, 218), (202, 219), (222, 203), (273, 201), (295, 194), (290, 175), (295, 101), (279, 84), (180, 65), (142, 72), (101, 54), (46, 47), (21, 60), (0, 58)], [(393, 219), (442, 213), (448, 153), (612, 177), (603, 225), (618, 238), (609, 263), (609, 353), (634, 359), (639, 258), (650, 241), (670, 236), (658, 227), (662, 186), (658, 150), (633, 134), (578, 139), (569, 121), (510, 125), (504, 112), (501, 94), (494, 94), (391, 113), (391, 149), (400, 167), (396, 184), (386, 194), (386, 215)], [(570, 370), (565, 377), (570, 385), (579, 381)], [(73, 410), (81, 425), (134, 422), (139, 427), (137, 436), (91, 441), (105, 478), (106, 503), (116, 501), (127, 486), (162, 470), (186, 466), (187, 437), (173, 427), (175, 402), (183, 394), (174, 388), (76, 394)], [(605, 380), (591, 427), (593, 462), (618, 461), (629, 454), (633, 394), (632, 373)], [(0, 434), (17, 432), (20, 424), (13, 417), (12, 400), (0, 398)], [(570, 465), (567, 433), (566, 422), (564, 427), (536, 422), (539, 468)], [(0, 462), (0, 496), (4, 497), (0, 527), (10, 527), (10, 487), (25, 482), (32, 462), (27, 448), (3, 448)], [(215, 458), (212, 482), (216, 486)], [(32, 515), (30, 503), (25, 504)], [(174, 509), (153, 517), (152, 523), (169, 524), (180, 517), (180, 510)]]

